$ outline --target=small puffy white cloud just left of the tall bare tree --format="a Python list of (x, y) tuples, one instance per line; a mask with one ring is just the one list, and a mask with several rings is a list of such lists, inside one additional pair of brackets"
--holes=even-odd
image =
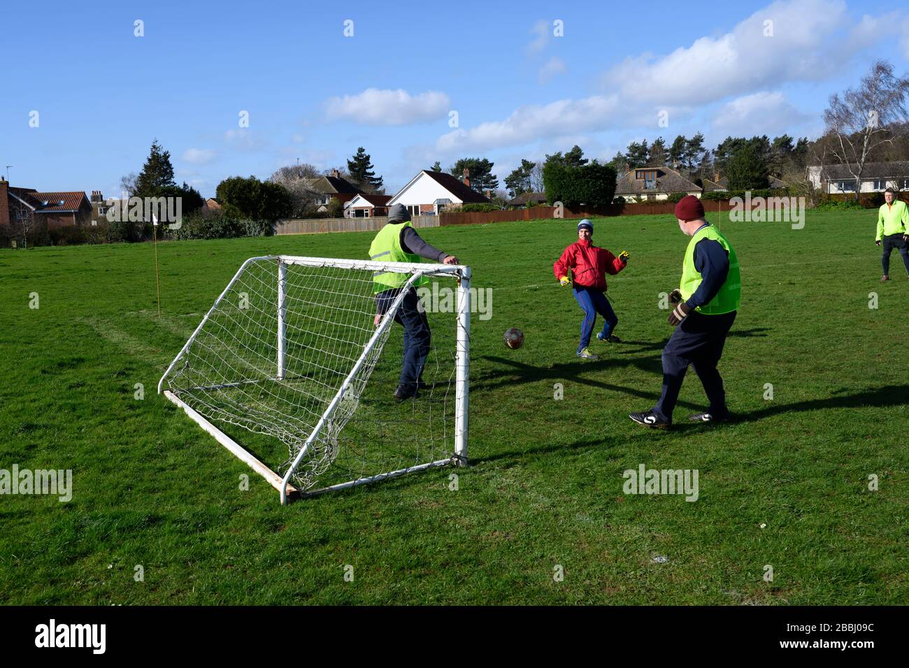
[(794, 134), (794, 128), (812, 119), (813, 115), (800, 112), (782, 93), (763, 91), (723, 105), (714, 116), (713, 130), (733, 136)]

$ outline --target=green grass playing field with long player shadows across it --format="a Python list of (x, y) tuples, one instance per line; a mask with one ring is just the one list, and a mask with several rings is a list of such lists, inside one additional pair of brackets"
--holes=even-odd
[[(255, 475), (240, 491), (245, 464), (155, 385), (245, 258), (364, 257), (370, 234), (162, 244), (160, 319), (149, 244), (0, 252), (0, 469), (74, 475), (69, 503), (0, 497), (0, 601), (909, 602), (909, 281), (894, 254), (877, 283), (874, 212), (722, 222), (743, 305), (720, 369), (741, 419), (684, 424), (704, 405), (691, 372), (677, 428), (655, 433), (626, 414), (659, 394), (658, 294), (687, 237), (662, 216), (595, 222), (594, 243), (631, 261), (610, 279), (624, 343), (583, 363), (581, 312), (552, 273), (575, 224), (422, 231), (494, 289), (492, 319), (473, 321), (457, 491), (441, 469), (285, 507)], [(623, 494), (639, 464), (697, 469), (699, 499)]]

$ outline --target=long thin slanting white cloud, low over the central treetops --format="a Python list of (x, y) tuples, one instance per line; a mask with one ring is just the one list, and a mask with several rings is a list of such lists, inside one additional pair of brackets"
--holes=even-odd
[(558, 100), (548, 105), (518, 107), (504, 121), (490, 121), (442, 135), (435, 150), (445, 155), (522, 145), (541, 138), (605, 130), (619, 115), (615, 95), (593, 95), (582, 100)]

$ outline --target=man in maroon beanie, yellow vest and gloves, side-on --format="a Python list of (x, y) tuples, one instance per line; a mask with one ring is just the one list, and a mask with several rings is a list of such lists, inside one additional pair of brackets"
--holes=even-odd
[(742, 276), (729, 240), (704, 218), (704, 204), (693, 194), (675, 205), (675, 218), (691, 237), (682, 265), (682, 281), (670, 296), (675, 304), (669, 324), (676, 327), (663, 349), (663, 394), (649, 411), (629, 414), (634, 422), (665, 429), (673, 423), (673, 410), (688, 365), (704, 384), (710, 405), (689, 417), (694, 422), (729, 419), (723, 378), (716, 364), (723, 354), (729, 328), (742, 301)]

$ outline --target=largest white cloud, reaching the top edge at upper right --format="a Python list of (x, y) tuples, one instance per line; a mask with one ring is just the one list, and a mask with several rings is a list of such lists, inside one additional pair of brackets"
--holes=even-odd
[(838, 35), (848, 21), (843, 0), (774, 2), (725, 35), (701, 37), (659, 58), (628, 58), (604, 83), (628, 100), (686, 105), (785, 81), (820, 80), (863, 47), (857, 37)]

